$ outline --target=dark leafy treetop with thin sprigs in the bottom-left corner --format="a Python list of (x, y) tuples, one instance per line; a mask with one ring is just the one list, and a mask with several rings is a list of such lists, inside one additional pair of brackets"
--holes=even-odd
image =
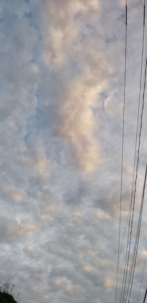
[(20, 300), (20, 292), (17, 295), (14, 295), (12, 292), (15, 288), (15, 285), (10, 285), (9, 279), (5, 284), (0, 286), (0, 302), (1, 303), (17, 303)]

